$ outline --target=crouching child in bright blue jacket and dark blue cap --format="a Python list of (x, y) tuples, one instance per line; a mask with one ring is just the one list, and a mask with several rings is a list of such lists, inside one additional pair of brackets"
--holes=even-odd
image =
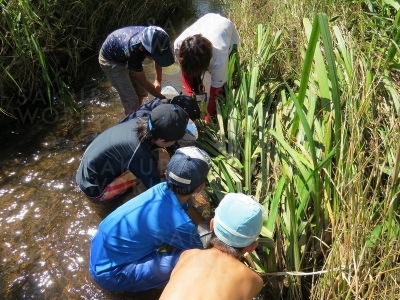
[[(112, 292), (163, 287), (184, 250), (203, 248), (195, 225), (202, 219), (188, 200), (203, 189), (209, 169), (205, 151), (179, 148), (167, 166), (166, 182), (126, 202), (100, 223), (89, 259), (89, 272), (100, 287)], [(173, 250), (159, 251), (165, 245)]]

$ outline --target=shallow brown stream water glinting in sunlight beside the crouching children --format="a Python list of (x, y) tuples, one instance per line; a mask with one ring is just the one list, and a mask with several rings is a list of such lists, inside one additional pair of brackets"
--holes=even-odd
[[(211, 0), (194, 1), (164, 28), (173, 41), (197, 17), (220, 9)], [(116, 206), (88, 201), (75, 174), (89, 143), (124, 115), (97, 59), (85, 67), (76, 112), (22, 108), (19, 124), (1, 129), (0, 299), (158, 299), (161, 293), (108, 293), (88, 274), (90, 240)], [(145, 69), (152, 74), (152, 62)], [(163, 70), (163, 84), (181, 89), (178, 65)], [(27, 101), (43, 102), (41, 93)]]

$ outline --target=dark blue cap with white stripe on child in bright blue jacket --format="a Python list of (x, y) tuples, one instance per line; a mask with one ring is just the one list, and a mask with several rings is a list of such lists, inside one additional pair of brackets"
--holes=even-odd
[(193, 193), (206, 180), (210, 167), (210, 157), (204, 150), (179, 148), (168, 163), (167, 182)]

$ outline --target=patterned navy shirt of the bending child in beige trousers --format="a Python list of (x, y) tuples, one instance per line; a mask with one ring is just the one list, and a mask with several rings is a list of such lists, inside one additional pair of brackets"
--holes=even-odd
[(128, 26), (111, 32), (103, 45), (101, 53), (107, 60), (126, 63), (128, 69), (136, 72), (143, 71), (145, 52), (139, 49), (140, 37), (145, 26)]

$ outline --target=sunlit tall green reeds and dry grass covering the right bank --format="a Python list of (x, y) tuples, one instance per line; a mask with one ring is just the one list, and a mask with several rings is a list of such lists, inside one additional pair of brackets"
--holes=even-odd
[(216, 205), (238, 191), (269, 213), (252, 254), (268, 298), (398, 297), (399, 8), (231, 2), (242, 61), (199, 145)]

